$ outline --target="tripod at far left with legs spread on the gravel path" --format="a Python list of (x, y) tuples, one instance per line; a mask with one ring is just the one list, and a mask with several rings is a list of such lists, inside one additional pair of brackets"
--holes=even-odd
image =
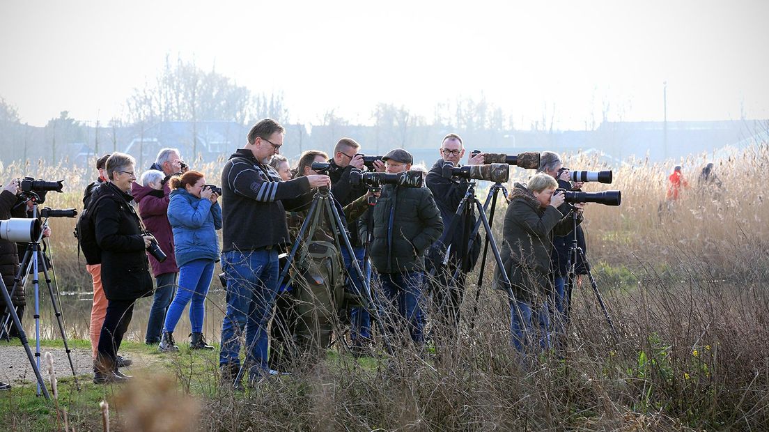
[[(38, 216), (38, 205), (35, 200), (35, 198), (31, 198), (33, 201), (32, 206), (32, 218), (37, 218)], [(45, 220), (45, 222), (42, 224), (42, 231), (45, 231), (45, 228), (48, 227), (48, 219)], [(37, 367), (38, 370), (40, 368), (40, 293), (39, 293), (39, 287), (40, 287), (40, 281), (38, 279), (38, 275), (40, 270), (42, 269), (43, 274), (45, 275), (45, 284), (48, 287), (48, 295), (51, 298), (51, 304), (53, 306), (53, 310), (56, 316), (56, 321), (58, 324), (58, 330), (62, 334), (62, 341), (64, 341), (64, 348), (65, 352), (67, 353), (67, 358), (69, 360), (69, 367), (72, 369), (72, 377), (75, 378), (75, 386), (80, 389), (80, 384), (78, 384), (78, 377), (77, 373), (75, 372), (75, 364), (72, 363), (72, 355), (71, 350), (69, 349), (69, 344), (67, 342), (67, 334), (64, 331), (64, 319), (62, 317), (62, 311), (59, 309), (58, 304), (56, 302), (56, 296), (54, 294), (53, 286), (51, 284), (51, 277), (48, 275), (48, 264), (46, 264), (45, 258), (40, 260), (38, 262), (39, 253), (41, 252), (40, 248), (40, 242), (42, 241), (42, 231), (40, 234), (40, 238), (37, 238), (35, 241), (31, 241), (27, 244), (27, 250), (24, 254), (24, 259), (22, 260), (22, 263), (19, 264), (18, 274), (16, 274), (16, 277), (14, 278), (13, 287), (11, 289), (11, 293), (9, 294), (9, 298), (15, 293), (16, 289), (18, 287), (22, 287), (21, 289), (24, 289), (25, 285), (27, 284), (27, 281), (29, 280), (29, 274), (30, 270), (32, 270), (32, 287), (35, 289), (35, 357), (37, 357)], [(42, 264), (42, 265), (41, 265)], [(58, 291), (58, 287), (56, 288), (56, 291)], [(19, 339), (22, 340), (22, 344), (25, 344), (25, 348), (29, 349), (27, 347), (27, 343), (25, 342), (26, 337), (22, 339), (22, 328), (21, 328), (21, 321), (18, 320), (18, 314), (15, 311), (15, 308), (12, 307), (12, 303), (10, 301), (7, 302), (8, 304), (8, 315), (5, 317), (5, 320), (3, 320), (2, 323), (2, 329), (0, 329), (0, 334), (5, 334), (6, 337), (8, 337), (8, 331), (10, 330), (9, 322), (11, 320), (14, 321), (14, 324), (18, 321), (17, 324), (17, 330), (19, 331)], [(45, 386), (41, 386), (41, 384), (38, 382), (38, 396), (40, 395), (41, 389), (45, 392)]]

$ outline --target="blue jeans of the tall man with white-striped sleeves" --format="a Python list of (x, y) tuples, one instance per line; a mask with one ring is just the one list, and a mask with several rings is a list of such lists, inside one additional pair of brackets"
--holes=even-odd
[(221, 254), (227, 277), (227, 312), (221, 323), (219, 364), (240, 364), (240, 337), (251, 377), (268, 371), (268, 330), (278, 293), (278, 249)]

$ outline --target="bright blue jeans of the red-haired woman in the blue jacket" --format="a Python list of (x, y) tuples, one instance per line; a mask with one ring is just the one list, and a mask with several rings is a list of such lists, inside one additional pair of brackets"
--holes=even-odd
[(203, 332), (205, 317), (205, 295), (211, 287), (211, 277), (214, 277), (214, 260), (195, 260), (179, 268), (179, 287), (174, 301), (165, 314), (163, 330), (172, 332), (179, 322), (181, 313), (190, 304), (190, 324), (192, 333)]

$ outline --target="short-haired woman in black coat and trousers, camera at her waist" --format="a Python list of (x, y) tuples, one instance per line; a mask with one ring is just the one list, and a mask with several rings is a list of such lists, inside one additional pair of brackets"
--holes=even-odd
[(135, 301), (152, 294), (145, 254), (152, 237), (142, 235), (138, 214), (131, 204), (135, 160), (114, 153), (106, 169), (109, 181), (99, 186), (91, 201), (96, 243), (102, 251), (102, 286), (108, 301), (94, 367), (97, 384), (128, 378), (118, 371), (117, 352), (131, 322)]

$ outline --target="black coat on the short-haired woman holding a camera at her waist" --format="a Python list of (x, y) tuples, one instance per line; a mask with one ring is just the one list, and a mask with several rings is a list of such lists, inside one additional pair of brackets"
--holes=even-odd
[(96, 243), (102, 249), (102, 286), (107, 300), (131, 301), (152, 294), (149, 261), (133, 197), (106, 182), (94, 192), (108, 194), (94, 208)]

